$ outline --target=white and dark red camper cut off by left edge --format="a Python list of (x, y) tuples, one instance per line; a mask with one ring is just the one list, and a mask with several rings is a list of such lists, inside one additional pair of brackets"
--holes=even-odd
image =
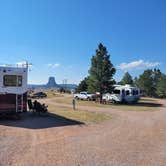
[(0, 114), (27, 110), (26, 66), (0, 67)]

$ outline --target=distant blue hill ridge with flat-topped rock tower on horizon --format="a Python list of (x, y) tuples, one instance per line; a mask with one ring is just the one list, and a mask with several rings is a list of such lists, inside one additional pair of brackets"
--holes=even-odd
[(66, 89), (75, 89), (77, 88), (76, 84), (57, 84), (55, 81), (55, 77), (49, 77), (47, 84), (36, 85), (36, 84), (29, 84), (29, 88), (39, 89), (39, 88), (66, 88)]

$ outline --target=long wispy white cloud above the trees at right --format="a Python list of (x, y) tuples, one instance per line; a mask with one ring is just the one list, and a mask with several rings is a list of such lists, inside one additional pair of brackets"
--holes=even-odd
[(121, 70), (152, 68), (160, 65), (159, 62), (145, 62), (143, 60), (133, 61), (130, 63), (121, 63), (118, 68)]

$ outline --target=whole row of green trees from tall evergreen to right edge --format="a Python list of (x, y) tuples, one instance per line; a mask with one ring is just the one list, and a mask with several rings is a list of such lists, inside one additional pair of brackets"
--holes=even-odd
[(126, 72), (120, 82), (113, 79), (115, 72), (116, 69), (110, 60), (106, 47), (100, 43), (95, 55), (91, 58), (89, 75), (80, 82), (77, 92), (111, 93), (114, 84), (130, 84), (141, 88), (144, 96), (166, 98), (166, 74), (159, 69), (147, 69), (135, 78)]

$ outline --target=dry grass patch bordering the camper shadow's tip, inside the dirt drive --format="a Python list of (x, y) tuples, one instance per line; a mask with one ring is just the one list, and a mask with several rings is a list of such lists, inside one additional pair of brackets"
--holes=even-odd
[(91, 112), (86, 110), (72, 110), (71, 108), (67, 107), (56, 107), (49, 105), (48, 110), (56, 115), (83, 123), (101, 123), (111, 119), (111, 115), (107, 113)]

